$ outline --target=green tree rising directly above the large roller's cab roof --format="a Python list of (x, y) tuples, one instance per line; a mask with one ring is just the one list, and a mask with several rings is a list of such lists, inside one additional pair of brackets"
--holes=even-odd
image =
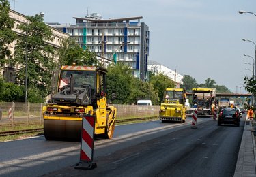
[(59, 65), (97, 65), (96, 54), (88, 49), (83, 50), (71, 38), (64, 39), (61, 48), (58, 50)]

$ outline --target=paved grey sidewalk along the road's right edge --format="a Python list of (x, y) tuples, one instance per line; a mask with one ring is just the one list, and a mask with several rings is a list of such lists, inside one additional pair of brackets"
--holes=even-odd
[(235, 177), (256, 176), (255, 150), (255, 138), (251, 131), (251, 121), (246, 120), (236, 163)]

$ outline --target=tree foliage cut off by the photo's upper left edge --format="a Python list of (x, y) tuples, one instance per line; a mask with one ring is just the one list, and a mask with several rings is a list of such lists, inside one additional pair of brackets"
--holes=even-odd
[(0, 0), (0, 63), (3, 65), (7, 63), (7, 57), (11, 52), (8, 49), (8, 44), (16, 39), (12, 27), (14, 27), (14, 20), (9, 17), (10, 3), (7, 0)]

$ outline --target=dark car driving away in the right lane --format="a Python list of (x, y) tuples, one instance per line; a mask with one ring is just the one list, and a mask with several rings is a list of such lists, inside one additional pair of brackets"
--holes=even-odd
[(236, 126), (240, 126), (240, 112), (235, 108), (224, 108), (221, 110), (220, 114), (218, 114), (218, 125), (223, 123), (225, 124), (235, 124)]

